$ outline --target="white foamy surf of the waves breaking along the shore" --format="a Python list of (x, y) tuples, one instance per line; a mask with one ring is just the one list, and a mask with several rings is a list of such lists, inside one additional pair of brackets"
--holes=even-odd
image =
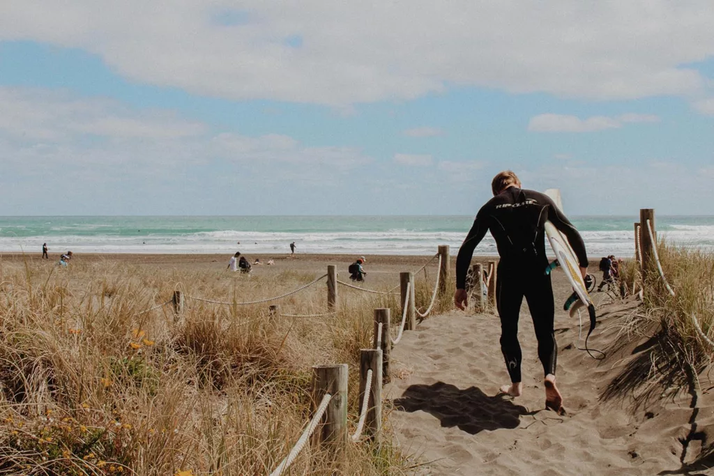
[[(396, 223), (405, 223), (404, 220)], [(150, 231), (146, 235), (127, 236), (126, 230), (121, 233), (106, 229), (105, 223), (78, 223), (55, 225), (44, 228), (46, 233), (36, 233), (34, 236), (19, 236), (20, 233), (6, 233), (0, 237), (0, 251), (19, 252), (21, 250), (37, 252), (41, 244), (46, 242), (51, 253), (64, 253), (72, 250), (75, 253), (235, 253), (240, 250), (249, 255), (266, 255), (289, 253), (288, 243), (297, 243), (298, 253), (347, 253), (347, 254), (396, 254), (396, 255), (431, 255), (438, 245), (451, 246), (456, 254), (466, 237), (468, 230), (462, 231), (425, 231), (421, 223), (414, 223), (413, 228), (384, 227), (384, 231), (347, 231), (352, 223), (343, 221), (341, 231), (251, 231), (226, 227), (225, 230), (201, 231), (196, 233), (181, 233), (181, 229), (191, 230), (190, 219), (178, 223), (175, 228), (164, 225), (162, 231)], [(424, 222), (426, 223), (426, 222)], [(711, 222), (709, 222), (711, 223)], [(145, 222), (146, 224), (146, 222)], [(596, 259), (601, 255), (615, 254), (618, 256), (634, 255), (635, 243), (633, 231), (603, 230), (611, 223), (595, 223), (596, 231), (582, 231), (588, 255)], [(313, 223), (306, 221), (305, 228)], [(427, 223), (431, 226), (430, 223)], [(468, 221), (463, 226), (468, 227)], [(459, 225), (461, 226), (461, 225)], [(3, 227), (7, 228), (7, 227)], [(144, 225), (141, 226), (144, 229)], [(146, 226), (147, 230), (150, 226)], [(583, 226), (585, 228), (585, 226)], [(697, 246), (705, 250), (714, 250), (714, 225), (669, 224), (662, 226), (658, 236), (671, 243), (687, 246)], [(14, 230), (25, 229), (24, 225), (15, 225)], [(118, 230), (115, 226), (114, 230)], [(195, 228), (194, 228), (195, 229)], [(339, 228), (338, 228), (339, 229)], [(0, 229), (0, 231), (2, 231)], [(137, 230), (134, 230), (137, 231)], [(240, 244), (238, 244), (240, 242)], [(548, 251), (549, 247), (546, 247)], [(495, 255), (496, 243), (490, 235), (483, 239), (476, 248), (477, 255)]]

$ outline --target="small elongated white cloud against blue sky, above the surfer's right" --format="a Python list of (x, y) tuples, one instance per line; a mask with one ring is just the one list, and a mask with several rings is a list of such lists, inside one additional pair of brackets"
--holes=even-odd
[(533, 132), (595, 132), (616, 129), (623, 123), (658, 122), (659, 116), (627, 113), (617, 117), (593, 116), (581, 119), (563, 114), (540, 114), (528, 122), (528, 131)]

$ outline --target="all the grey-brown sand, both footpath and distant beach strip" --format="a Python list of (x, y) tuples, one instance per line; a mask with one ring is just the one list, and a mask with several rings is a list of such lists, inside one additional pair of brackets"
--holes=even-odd
[[(453, 250), (455, 253), (456, 250)], [(275, 265), (253, 266), (253, 274), (296, 270), (322, 275), (338, 265), (341, 278), (353, 255), (248, 255), (253, 262), (273, 259)], [(53, 256), (46, 265), (56, 262)], [(103, 267), (132, 265), (151, 269), (225, 270), (230, 255), (75, 255), (76, 263)], [(366, 286), (386, 288), (398, 283), (398, 273), (416, 270), (428, 256), (367, 256)], [(473, 263), (486, 263), (478, 257)], [(1, 255), (2, 265), (31, 265), (38, 255)], [(591, 267), (591, 268), (594, 268)], [(451, 263), (453, 273), (453, 257)], [(430, 277), (436, 260), (428, 268)], [(594, 270), (593, 270), (594, 271)], [(226, 273), (229, 273), (226, 271)], [(599, 278), (599, 276), (598, 276)], [(423, 279), (419, 273), (416, 279)], [(655, 475), (714, 474), (696, 460), (710, 445), (714, 401), (708, 390), (687, 387), (646, 388), (648, 332), (618, 340), (618, 325), (638, 301), (613, 302), (595, 293), (598, 328), (590, 348), (608, 350), (605, 360), (593, 360), (576, 349), (578, 320), (561, 305), (570, 286), (561, 272), (553, 275), (555, 327), (558, 339), (558, 386), (567, 415), (543, 410), (543, 370), (536, 353), (533, 325), (526, 303), (521, 310), (519, 338), (523, 348), (524, 394), (497, 396), (508, 383), (499, 348), (500, 325), (493, 314), (453, 310), (418, 323), (391, 353), (392, 382), (383, 391), (387, 427), (403, 452), (420, 462), (424, 475)], [(583, 330), (588, 328), (585, 323)], [(583, 343), (580, 342), (580, 346)], [(700, 387), (711, 387), (700, 375)], [(693, 396), (694, 395), (694, 396)], [(391, 410), (390, 410), (391, 408)], [(686, 466), (691, 462), (694, 465)], [(682, 472), (683, 468), (693, 472)]]

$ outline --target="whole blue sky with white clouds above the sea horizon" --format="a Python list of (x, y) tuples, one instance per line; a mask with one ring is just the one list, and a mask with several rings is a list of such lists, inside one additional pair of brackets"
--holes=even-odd
[(714, 214), (711, 0), (4, 0), (0, 216)]

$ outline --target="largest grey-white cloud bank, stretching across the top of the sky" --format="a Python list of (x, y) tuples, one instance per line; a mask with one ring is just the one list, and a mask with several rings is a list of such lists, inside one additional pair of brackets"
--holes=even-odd
[(336, 106), (447, 85), (605, 100), (688, 95), (705, 80), (682, 65), (714, 56), (710, 0), (236, 5), (9, 0), (0, 40), (84, 49), (132, 81), (206, 96)]

